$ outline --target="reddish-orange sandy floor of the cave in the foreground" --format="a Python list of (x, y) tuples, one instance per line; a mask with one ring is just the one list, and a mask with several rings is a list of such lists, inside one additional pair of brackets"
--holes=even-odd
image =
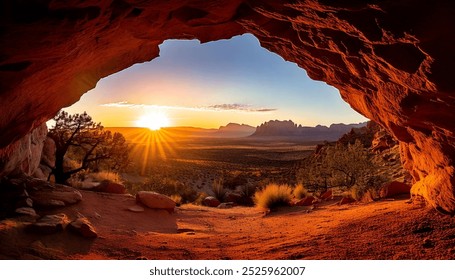
[[(126, 208), (133, 197), (83, 192), (82, 202), (47, 213), (83, 215), (99, 237), (37, 235), (26, 222), (0, 222), (2, 259), (454, 259), (455, 221), (435, 210), (384, 200), (282, 208), (184, 205), (173, 214)], [(46, 214), (47, 214), (46, 213)], [(42, 213), (44, 214), (44, 213)]]

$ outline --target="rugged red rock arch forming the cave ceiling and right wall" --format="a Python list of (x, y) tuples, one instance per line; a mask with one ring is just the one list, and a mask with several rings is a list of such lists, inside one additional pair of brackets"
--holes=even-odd
[(451, 1), (3, 1), (0, 158), (105, 76), (166, 39), (246, 32), (340, 90), (401, 145), (412, 193), (455, 213)]

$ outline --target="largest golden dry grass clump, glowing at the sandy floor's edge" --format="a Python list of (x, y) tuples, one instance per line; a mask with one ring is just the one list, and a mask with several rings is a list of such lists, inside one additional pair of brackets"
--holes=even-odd
[(272, 209), (279, 206), (289, 205), (292, 197), (292, 189), (287, 185), (270, 184), (254, 195), (258, 207)]

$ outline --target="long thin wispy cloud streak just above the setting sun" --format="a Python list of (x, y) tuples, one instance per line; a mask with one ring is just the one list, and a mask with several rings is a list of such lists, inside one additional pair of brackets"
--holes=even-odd
[(120, 101), (114, 103), (101, 104), (103, 107), (116, 107), (116, 108), (150, 108), (150, 109), (170, 109), (170, 110), (188, 110), (188, 111), (235, 111), (235, 112), (246, 112), (246, 113), (268, 113), (276, 111), (276, 108), (257, 108), (248, 104), (216, 104), (210, 106), (198, 106), (198, 107), (185, 107), (185, 106), (167, 106), (167, 105), (152, 105), (152, 104), (136, 104), (128, 101)]

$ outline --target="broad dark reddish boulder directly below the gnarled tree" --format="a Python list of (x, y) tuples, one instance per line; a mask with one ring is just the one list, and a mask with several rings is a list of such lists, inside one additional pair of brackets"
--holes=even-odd
[(30, 179), (27, 182), (30, 198), (38, 207), (60, 207), (75, 204), (82, 200), (82, 194), (75, 188)]

